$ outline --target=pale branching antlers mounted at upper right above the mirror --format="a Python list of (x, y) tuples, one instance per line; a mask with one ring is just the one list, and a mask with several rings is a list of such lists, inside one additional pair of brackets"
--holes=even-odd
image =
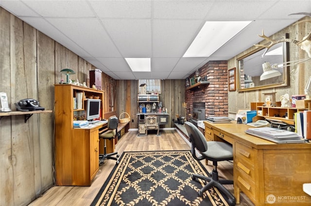
[[(302, 22), (311, 22), (311, 20), (303, 20), (303, 21), (299, 21), (295, 24), (299, 24)], [(294, 25), (295, 25), (294, 24)], [(275, 44), (280, 43), (280, 42), (292, 42), (294, 43), (296, 46), (298, 46), (298, 44), (301, 44), (304, 42), (304, 44), (301, 45), (301, 49), (306, 51), (309, 55), (309, 57), (311, 57), (311, 46), (309, 44), (311, 44), (311, 31), (309, 31), (309, 34), (307, 34), (306, 36), (303, 37), (303, 39), (301, 41), (297, 41), (295, 39), (290, 39), (290, 38), (284, 38), (284, 39), (278, 39), (278, 40), (274, 40), (272, 38), (269, 38), (268, 36), (263, 34), (263, 30), (262, 30), (262, 35), (259, 35), (261, 38), (264, 38), (268, 41), (270, 41), (269, 45), (261, 45), (261, 44), (254, 44), (254, 46), (259, 46), (259, 47), (264, 47), (266, 48), (265, 51), (263, 52), (263, 54), (261, 55), (261, 58), (266, 54), (266, 52)], [(307, 41), (307, 42), (306, 42)]]

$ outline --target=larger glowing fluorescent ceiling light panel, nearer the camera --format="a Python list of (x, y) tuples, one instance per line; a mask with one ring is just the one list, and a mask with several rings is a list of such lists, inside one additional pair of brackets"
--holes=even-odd
[(183, 57), (208, 57), (251, 21), (206, 21)]

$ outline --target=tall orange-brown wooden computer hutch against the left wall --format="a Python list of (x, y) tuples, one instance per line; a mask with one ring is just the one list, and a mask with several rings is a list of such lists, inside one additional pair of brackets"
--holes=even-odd
[[(90, 186), (99, 169), (99, 128), (73, 128), (76, 112), (85, 109), (85, 97), (99, 96), (104, 117), (104, 91), (73, 85), (55, 85), (55, 173), (57, 186)], [(73, 109), (73, 97), (82, 93), (82, 108)]]

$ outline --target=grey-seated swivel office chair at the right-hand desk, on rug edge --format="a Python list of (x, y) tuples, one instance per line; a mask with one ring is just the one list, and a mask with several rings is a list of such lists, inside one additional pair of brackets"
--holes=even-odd
[[(198, 161), (207, 159), (213, 162), (213, 171), (209, 177), (199, 174), (191, 175), (193, 180), (199, 178), (207, 182), (206, 185), (198, 192), (198, 195), (201, 197), (207, 189), (216, 187), (225, 193), (228, 197), (228, 203), (234, 206), (236, 203), (235, 197), (223, 186), (226, 184), (233, 184), (233, 180), (218, 179), (217, 172), (218, 161), (233, 160), (232, 146), (224, 142), (207, 141), (200, 130), (189, 121), (185, 122), (185, 127), (190, 137), (192, 145), (191, 154), (193, 158)], [(202, 154), (202, 156), (196, 156), (195, 148)]]

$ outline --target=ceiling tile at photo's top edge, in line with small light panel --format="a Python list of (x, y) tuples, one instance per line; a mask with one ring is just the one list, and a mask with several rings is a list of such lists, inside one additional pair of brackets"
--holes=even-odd
[(101, 18), (151, 18), (152, 1), (90, 0), (89, 2)]

